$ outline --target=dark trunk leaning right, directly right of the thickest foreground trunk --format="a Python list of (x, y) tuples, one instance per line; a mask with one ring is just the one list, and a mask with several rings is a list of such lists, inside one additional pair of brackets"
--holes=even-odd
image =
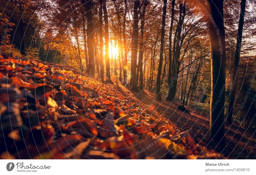
[(246, 4), (246, 0), (241, 0), (241, 10), (240, 10), (237, 39), (236, 39), (236, 55), (235, 55), (233, 75), (232, 75), (232, 86), (230, 91), (228, 112), (226, 114), (227, 116), (226, 121), (229, 124), (232, 123), (233, 107), (234, 107), (234, 102), (236, 97), (237, 76), (238, 76), (238, 71), (240, 69), (240, 52), (241, 52), (241, 43), (242, 43), (242, 35), (243, 35), (243, 26), (244, 26), (245, 4)]

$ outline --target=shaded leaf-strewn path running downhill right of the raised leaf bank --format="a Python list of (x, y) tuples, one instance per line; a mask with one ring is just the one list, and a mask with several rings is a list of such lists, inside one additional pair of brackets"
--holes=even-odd
[(161, 101), (157, 101), (156, 94), (147, 90), (134, 92), (131, 91), (129, 84), (124, 87), (117, 79), (114, 83), (117, 90), (125, 96), (132, 98), (142, 106), (153, 106), (151, 113), (168, 119), (177, 132), (189, 131), (192, 138), (206, 148), (224, 154), (229, 159), (256, 158), (256, 138), (255, 135), (247, 132), (246, 128), (234, 124), (225, 125), (225, 148), (223, 149), (209, 137), (210, 114), (190, 107), (186, 107), (189, 113), (183, 112), (177, 108), (179, 106), (177, 102), (170, 102), (163, 98)]

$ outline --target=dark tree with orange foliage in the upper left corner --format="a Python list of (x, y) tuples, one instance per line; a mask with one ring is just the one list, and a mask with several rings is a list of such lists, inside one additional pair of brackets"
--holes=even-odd
[[(31, 50), (38, 47), (41, 40), (39, 15), (44, 9), (49, 8), (49, 2), (42, 0), (2, 0), (0, 9), (3, 16), (8, 16), (9, 21), (14, 24), (10, 26), (10, 40), (15, 45), (22, 55), (29, 55)], [(1, 26), (4, 27), (4, 26)], [(28, 48), (27, 48), (28, 47)], [(32, 49), (33, 47), (33, 49)], [(35, 50), (34, 50), (35, 51)]]

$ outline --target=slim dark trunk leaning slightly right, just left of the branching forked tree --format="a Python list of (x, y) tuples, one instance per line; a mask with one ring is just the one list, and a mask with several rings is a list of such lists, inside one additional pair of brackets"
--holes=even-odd
[(162, 26), (161, 26), (161, 45), (160, 45), (160, 56), (159, 56), (159, 65), (157, 70), (156, 77), (156, 99), (161, 100), (161, 73), (163, 66), (163, 52), (164, 52), (164, 34), (165, 34), (165, 18), (166, 18), (166, 8), (167, 0), (164, 0), (163, 16), (162, 16)]

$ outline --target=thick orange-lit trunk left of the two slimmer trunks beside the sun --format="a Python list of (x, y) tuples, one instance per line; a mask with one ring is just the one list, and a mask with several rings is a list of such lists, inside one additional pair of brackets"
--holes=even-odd
[(94, 62), (94, 28), (92, 21), (92, 0), (82, 0), (82, 5), (86, 11), (87, 17), (87, 45), (88, 45), (88, 63), (89, 73), (92, 78), (95, 77), (95, 62)]

